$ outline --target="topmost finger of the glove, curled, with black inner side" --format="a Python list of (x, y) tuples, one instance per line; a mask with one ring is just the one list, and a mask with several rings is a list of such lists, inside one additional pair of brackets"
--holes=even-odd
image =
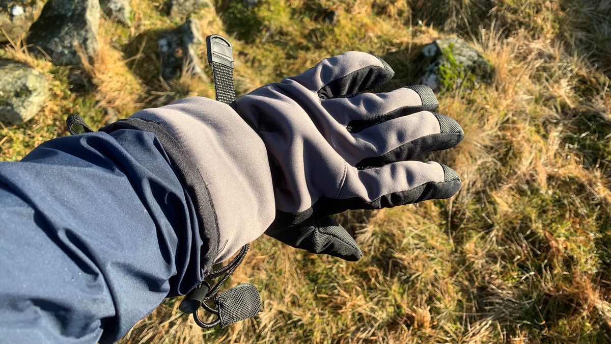
[(313, 68), (289, 79), (318, 94), (321, 99), (351, 97), (389, 81), (395, 72), (378, 56), (348, 51), (318, 62)]

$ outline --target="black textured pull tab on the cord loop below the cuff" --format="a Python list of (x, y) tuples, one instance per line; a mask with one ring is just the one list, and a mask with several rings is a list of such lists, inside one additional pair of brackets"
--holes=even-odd
[(241, 284), (214, 297), (221, 327), (252, 318), (259, 313), (261, 296), (255, 286)]

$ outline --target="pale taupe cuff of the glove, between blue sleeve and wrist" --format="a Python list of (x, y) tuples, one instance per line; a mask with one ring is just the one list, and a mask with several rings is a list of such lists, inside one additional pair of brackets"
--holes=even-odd
[[(216, 214), (214, 231), (218, 234), (213, 258), (216, 263), (263, 234), (276, 216), (267, 150), (232, 107), (191, 97), (138, 111), (131, 116), (134, 119), (163, 127), (166, 136), (180, 148), (169, 154), (183, 162), (182, 173), (188, 176), (191, 173), (186, 171), (190, 170), (198, 174), (197, 178), (184, 179), (185, 184), (191, 190), (205, 185), (209, 192), (208, 203)], [(162, 144), (166, 148), (167, 143)], [(200, 189), (203, 195), (199, 198), (207, 196), (205, 190)]]

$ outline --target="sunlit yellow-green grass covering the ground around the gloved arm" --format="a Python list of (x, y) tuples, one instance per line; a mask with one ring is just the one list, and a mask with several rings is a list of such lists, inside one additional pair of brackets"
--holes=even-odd
[[(45, 72), (54, 95), (32, 121), (1, 128), (0, 159), (65, 135), (70, 113), (98, 127), (109, 113), (213, 96), (207, 80), (160, 80), (156, 37), (180, 22), (159, 13), (162, 1), (132, 2), (134, 27), (104, 20), (92, 65), (54, 67), (19, 43), (0, 49)], [(609, 2), (214, 5), (194, 18), (204, 35), (232, 39), (240, 94), (347, 50), (386, 58), (397, 72), (393, 87), (414, 83), (420, 49), (446, 36), (470, 42), (494, 77), (475, 91), (439, 94), (439, 111), (466, 133), (455, 149), (429, 157), (461, 174), (454, 198), (338, 216), (363, 249), (358, 263), (262, 237), (229, 283), (261, 290), (257, 318), (203, 330), (169, 299), (122, 343), (611, 341)], [(330, 10), (334, 25), (323, 20)]]

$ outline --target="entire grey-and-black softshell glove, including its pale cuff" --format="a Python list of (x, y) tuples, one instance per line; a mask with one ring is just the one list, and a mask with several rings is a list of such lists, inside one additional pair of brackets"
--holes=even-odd
[[(210, 193), (224, 261), (264, 232), (293, 247), (357, 260), (353, 238), (329, 217), (447, 198), (461, 181), (436, 162), (464, 133), (426, 86), (361, 93), (393, 76), (386, 62), (348, 52), (269, 84), (233, 107), (192, 97), (138, 111), (172, 136)], [(170, 140), (171, 141), (171, 140)], [(213, 252), (213, 253), (214, 253)]]

